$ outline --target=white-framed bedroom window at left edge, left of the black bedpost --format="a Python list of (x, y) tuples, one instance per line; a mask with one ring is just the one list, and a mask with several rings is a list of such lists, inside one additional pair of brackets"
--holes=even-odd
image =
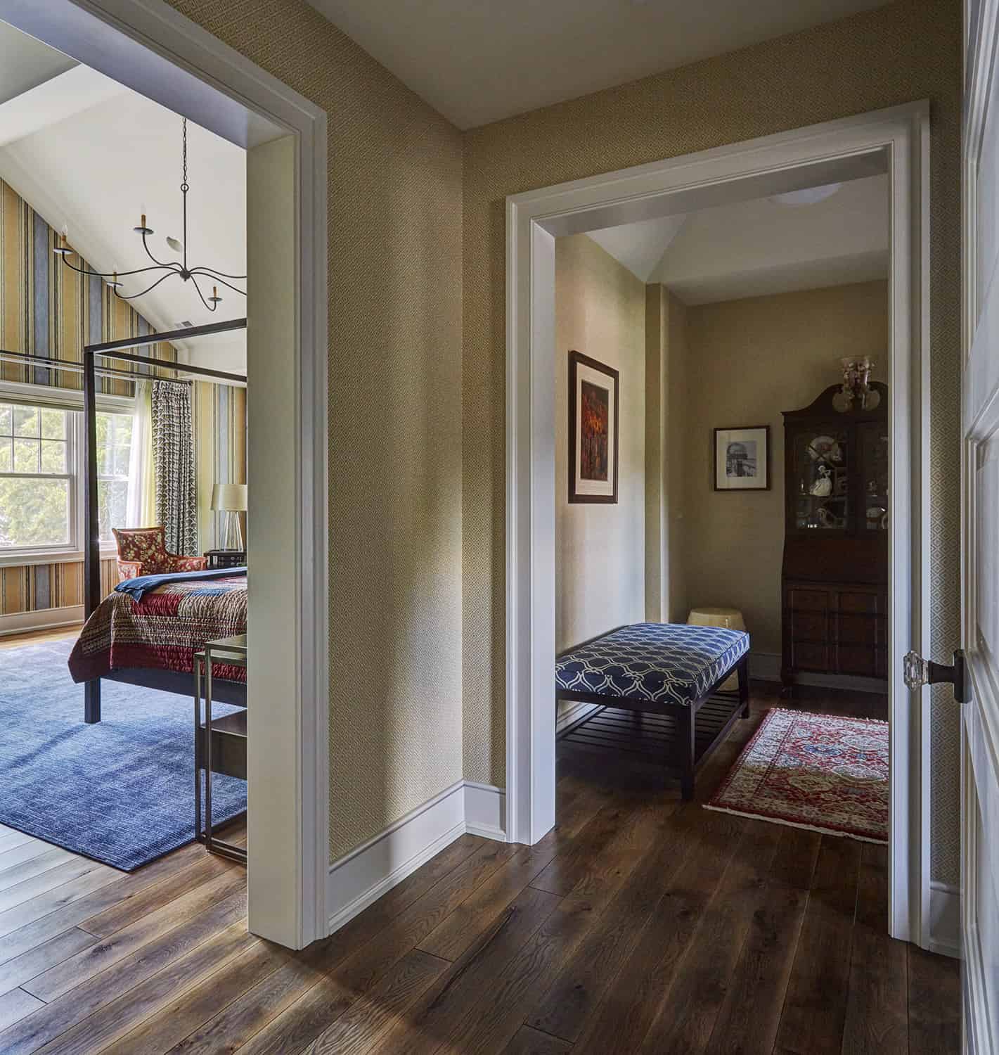
[(0, 403), (0, 553), (74, 542), (75, 431), (68, 410)]

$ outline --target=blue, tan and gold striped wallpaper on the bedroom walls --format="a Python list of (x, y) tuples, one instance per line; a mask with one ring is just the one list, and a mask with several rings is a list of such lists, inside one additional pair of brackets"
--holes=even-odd
[[(53, 253), (53, 230), (17, 192), (0, 179), (0, 348), (82, 362), (83, 345), (154, 333), (127, 301), (100, 279), (64, 267)], [(74, 264), (88, 266), (79, 257)], [(140, 354), (175, 360), (172, 345), (139, 349)], [(140, 364), (113, 364), (149, 375)], [(80, 388), (82, 377), (21, 363), (0, 363), (0, 379)], [(103, 379), (105, 392), (132, 395), (126, 380)], [(198, 510), (201, 549), (214, 544), (212, 484), (246, 480), (246, 392), (196, 384)], [(204, 505), (204, 513), (201, 506)], [(114, 560), (101, 562), (103, 589), (117, 580)], [(63, 562), (0, 569), (0, 616), (82, 603), (83, 564)]]

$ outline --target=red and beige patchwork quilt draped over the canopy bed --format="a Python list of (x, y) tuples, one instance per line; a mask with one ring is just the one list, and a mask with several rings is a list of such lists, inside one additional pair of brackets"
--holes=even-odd
[[(70, 654), (74, 682), (113, 670), (147, 667), (190, 673), (206, 641), (246, 633), (246, 573), (209, 581), (174, 581), (135, 600), (105, 597), (87, 620)], [(215, 664), (215, 677), (245, 682), (241, 667)]]

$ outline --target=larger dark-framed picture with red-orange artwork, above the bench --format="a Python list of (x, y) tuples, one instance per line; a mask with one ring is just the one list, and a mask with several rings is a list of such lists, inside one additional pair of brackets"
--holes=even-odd
[(570, 502), (617, 502), (619, 382), (614, 367), (569, 352)]

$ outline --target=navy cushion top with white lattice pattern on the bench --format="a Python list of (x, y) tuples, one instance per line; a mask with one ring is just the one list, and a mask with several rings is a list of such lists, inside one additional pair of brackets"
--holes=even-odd
[(555, 685), (621, 699), (689, 706), (749, 651), (749, 634), (721, 627), (636, 622), (555, 663)]

